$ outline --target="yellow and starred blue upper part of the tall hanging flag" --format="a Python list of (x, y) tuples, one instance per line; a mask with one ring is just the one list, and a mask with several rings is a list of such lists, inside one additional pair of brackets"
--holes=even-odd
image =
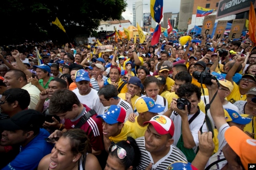
[(163, 18), (163, 0), (150, 0), (150, 14), (157, 23)]

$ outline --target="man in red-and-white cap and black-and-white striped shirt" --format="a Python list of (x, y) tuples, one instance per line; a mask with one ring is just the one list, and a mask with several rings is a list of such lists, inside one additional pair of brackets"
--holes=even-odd
[(164, 115), (156, 115), (150, 121), (144, 137), (136, 139), (141, 157), (137, 170), (145, 170), (148, 166), (156, 170), (166, 170), (172, 162), (187, 162), (184, 154), (173, 144), (174, 124)]

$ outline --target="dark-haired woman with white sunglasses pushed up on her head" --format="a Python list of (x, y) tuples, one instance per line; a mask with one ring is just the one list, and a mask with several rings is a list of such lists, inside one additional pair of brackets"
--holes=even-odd
[(140, 150), (132, 137), (128, 137), (127, 141), (110, 145), (108, 151), (108, 160), (104, 170), (132, 170), (138, 166)]

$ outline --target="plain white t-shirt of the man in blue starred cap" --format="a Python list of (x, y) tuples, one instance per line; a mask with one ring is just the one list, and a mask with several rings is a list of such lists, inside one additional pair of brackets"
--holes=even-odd
[(78, 88), (75, 88), (74, 90), (72, 90), (72, 92), (76, 94), (82, 104), (85, 104), (90, 109), (94, 109), (94, 111), (96, 111), (98, 115), (104, 114), (105, 107), (102, 105), (102, 103), (100, 103), (100, 98), (98, 96), (97, 90), (91, 88), (90, 93), (84, 96), (79, 93)]

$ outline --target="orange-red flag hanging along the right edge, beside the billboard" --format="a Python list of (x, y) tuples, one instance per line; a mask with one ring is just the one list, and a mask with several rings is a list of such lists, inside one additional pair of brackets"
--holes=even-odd
[(254, 11), (254, 6), (251, 2), (250, 11), (249, 11), (249, 35), (252, 42), (256, 43), (256, 16)]

